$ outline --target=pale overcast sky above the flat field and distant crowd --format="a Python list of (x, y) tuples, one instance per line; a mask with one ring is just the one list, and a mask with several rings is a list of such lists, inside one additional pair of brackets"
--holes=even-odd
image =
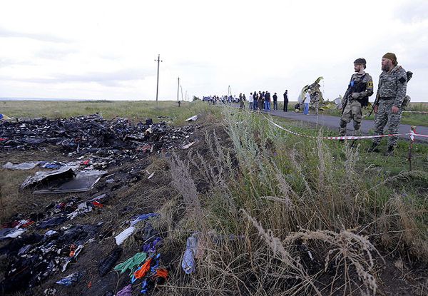
[(377, 89), (390, 51), (414, 72), (412, 101), (428, 101), (427, 32), (428, 0), (2, 1), (0, 97), (153, 100), (161, 54), (161, 100), (180, 77), (189, 96), (296, 101), (318, 76), (331, 100), (360, 57)]

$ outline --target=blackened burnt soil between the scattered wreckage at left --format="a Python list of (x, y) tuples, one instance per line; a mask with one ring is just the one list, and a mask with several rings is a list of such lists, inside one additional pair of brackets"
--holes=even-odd
[[(176, 147), (181, 147), (185, 143), (195, 141), (196, 143), (188, 149), (155, 149), (152, 152), (148, 150), (146, 153), (139, 153), (135, 159), (118, 158), (116, 163), (109, 163), (106, 165), (106, 168), (103, 168), (104, 170), (108, 170), (108, 176), (101, 178), (92, 190), (84, 193), (34, 195), (32, 188), (19, 191), (17, 188), (26, 176), (34, 175), (39, 170), (49, 170), (41, 168), (34, 168), (32, 170), (6, 170), (1, 168), (1, 175), (5, 179), (7, 178), (7, 181), (2, 183), (3, 188), (1, 188), (3, 205), (2, 223), (10, 223), (20, 219), (34, 220), (35, 223), (27, 228), (27, 232), (22, 235), (22, 238), (0, 241), (0, 250), (2, 251), (0, 257), (0, 282), (5, 280), (5, 277), (6, 282), (8, 279), (10, 282), (10, 285), (6, 285), (8, 286), (7, 288), (2, 286), (3, 291), (0, 290), (0, 295), (13, 295), (14, 293), (16, 295), (45, 295), (44, 292), (49, 288), (56, 289), (55, 295), (109, 295), (108, 292), (115, 293), (121, 290), (123, 286), (128, 285), (128, 272), (121, 275), (121, 277), (118, 277), (116, 272), (109, 272), (107, 275), (101, 277), (98, 272), (98, 265), (117, 247), (114, 236), (128, 227), (128, 224), (126, 224), (128, 221), (132, 221), (133, 218), (141, 214), (158, 213), (165, 203), (178, 198), (178, 193), (171, 185), (166, 158), (170, 157), (172, 150), (181, 156), (186, 155), (190, 150), (208, 153), (208, 148), (204, 146), (205, 130), (208, 128), (208, 130), (212, 131), (215, 128), (211, 123), (212, 120), (210, 118), (203, 118), (187, 125), (192, 127), (190, 129), (192, 132), (186, 138), (178, 139), (174, 144), (176, 144)], [(224, 134), (223, 128), (217, 126), (217, 129), (218, 134)], [(226, 140), (225, 137), (222, 138)], [(91, 159), (91, 154), (94, 153), (88, 153), (82, 160)], [(56, 160), (66, 163), (76, 160), (76, 157), (77, 155), (68, 156), (68, 150), (64, 151), (62, 147), (43, 146), (42, 150), (2, 151), (0, 153), (0, 163), (3, 165), (8, 161), (23, 163), (34, 160)], [(114, 158), (113, 154), (113, 158), (111, 159)], [(111, 159), (108, 161), (111, 161)], [(97, 161), (99, 162), (100, 160), (97, 159)], [(154, 173), (153, 177), (149, 179), (152, 173)], [(111, 182), (111, 179), (114, 181)], [(108, 183), (106, 183), (106, 180), (109, 180)], [(203, 183), (199, 183), (198, 188), (203, 191), (203, 186)], [(10, 194), (6, 195), (6, 192)], [(74, 210), (78, 203), (90, 200), (104, 193), (106, 194), (106, 198), (100, 200), (103, 208), (93, 208), (89, 213), (83, 213), (83, 215), (79, 215), (73, 220), (67, 220), (51, 228), (42, 230), (37, 228), (37, 225), (41, 221), (46, 220), (46, 216), (51, 213), (53, 207), (55, 208), (61, 203), (72, 201), (74, 205), (71, 206), (71, 210)], [(174, 220), (180, 220), (180, 215), (183, 215), (179, 209), (175, 209), (174, 213), (176, 216), (169, 217), (170, 220), (167, 221), (169, 224), (174, 223)], [(163, 224), (165, 223), (158, 222), (157, 220), (161, 219), (152, 218), (150, 221), (153, 225), (156, 225), (162, 237), (162, 231), (165, 231)], [(75, 243), (75, 241), (84, 245), (76, 261), (71, 262), (65, 272), (58, 270), (52, 272), (44, 280), (35, 280), (33, 275), (22, 275), (26, 274), (29, 270), (31, 272), (34, 272), (33, 270), (38, 272), (41, 269), (21, 266), (22, 272), (14, 272), (12, 278), (6, 275), (7, 271), (11, 270), (10, 263), (13, 262), (11, 254), (8, 252), (19, 250), (25, 245), (41, 245), (41, 243), (35, 243), (39, 240), (31, 237), (33, 233), (43, 236), (48, 230), (57, 230), (62, 235), (65, 235), (63, 230), (73, 229), (76, 225), (83, 226), (83, 230), (80, 233), (85, 233), (85, 228), (88, 225), (94, 229), (90, 228), (86, 236), (83, 235), (82, 238), (72, 238), (65, 243), (54, 241), (57, 245), (61, 245), (62, 252), (66, 253), (68, 253), (71, 243)], [(132, 257), (136, 252), (141, 252), (141, 245), (144, 243), (144, 225), (144, 223), (138, 223), (136, 225), (136, 233), (121, 245), (123, 251), (116, 264), (123, 262), (128, 257)], [(92, 242), (89, 240), (90, 238), (94, 238)], [(44, 245), (47, 244), (45, 243)], [(175, 255), (173, 256), (168, 254), (168, 252), (163, 253), (160, 266), (167, 267), (170, 271), (178, 268), (179, 261), (177, 260), (179, 258), (177, 255), (181, 254), (184, 247), (183, 245), (180, 247), (180, 250), (175, 250)], [(165, 247), (165, 249), (168, 248)], [(171, 251), (173, 250), (169, 252)], [(162, 251), (160, 252), (162, 253)], [(14, 255), (16, 255), (16, 252)], [(44, 260), (47, 257), (43, 254), (40, 256), (37, 261)], [(66, 255), (61, 257), (61, 260), (65, 257)], [(175, 262), (171, 261), (173, 259)], [(63, 287), (55, 284), (56, 281), (73, 272), (83, 273), (83, 277), (77, 284), (71, 287)], [(138, 295), (138, 290), (140, 289), (134, 290), (135, 294)]]

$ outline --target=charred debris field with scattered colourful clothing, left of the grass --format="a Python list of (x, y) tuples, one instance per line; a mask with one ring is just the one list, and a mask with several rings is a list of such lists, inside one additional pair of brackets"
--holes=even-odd
[[(156, 210), (174, 193), (156, 191), (170, 180), (158, 172), (165, 164), (153, 162), (198, 143), (198, 129), (99, 114), (0, 122), (1, 166), (28, 172), (19, 192), (29, 204), (0, 227), (0, 295), (156, 290), (180, 263), (159, 252)], [(33, 158), (44, 155), (51, 159)]]

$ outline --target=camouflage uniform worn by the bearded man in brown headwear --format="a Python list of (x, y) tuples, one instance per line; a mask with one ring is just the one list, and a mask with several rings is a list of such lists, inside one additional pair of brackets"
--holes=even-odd
[[(374, 116), (374, 134), (383, 135), (384, 127), (388, 125), (388, 133), (398, 133), (399, 121), (402, 117), (402, 103), (406, 96), (407, 74), (402, 66), (394, 66), (389, 72), (383, 71), (379, 76), (377, 88), (377, 113)], [(397, 113), (392, 113), (392, 106), (399, 108)], [(382, 138), (373, 138), (373, 143), (378, 145)], [(397, 145), (398, 136), (388, 138), (388, 146)]]

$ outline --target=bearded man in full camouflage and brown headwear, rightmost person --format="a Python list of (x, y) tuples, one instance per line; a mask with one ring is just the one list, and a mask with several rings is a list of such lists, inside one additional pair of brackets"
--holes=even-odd
[[(399, 121), (402, 117), (402, 103), (406, 96), (407, 73), (397, 65), (397, 56), (386, 53), (382, 56), (382, 73), (379, 76), (376, 101), (374, 102), (374, 134), (383, 135), (388, 125), (388, 133), (398, 133)], [(388, 150), (385, 155), (392, 155), (397, 145), (398, 136), (388, 138)], [(377, 146), (381, 138), (373, 138), (371, 151), (379, 152)]]

